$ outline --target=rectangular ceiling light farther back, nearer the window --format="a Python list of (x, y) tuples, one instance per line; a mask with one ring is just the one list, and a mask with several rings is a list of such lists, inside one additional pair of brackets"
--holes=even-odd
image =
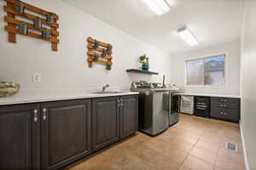
[(195, 46), (198, 45), (198, 41), (195, 39), (194, 35), (192, 34), (191, 31), (189, 31), (188, 28), (183, 27), (179, 28), (177, 30), (177, 34), (179, 37), (183, 38), (185, 42), (188, 42), (190, 46)]

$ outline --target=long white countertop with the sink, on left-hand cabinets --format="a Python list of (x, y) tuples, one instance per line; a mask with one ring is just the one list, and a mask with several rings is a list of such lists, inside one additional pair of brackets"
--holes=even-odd
[(71, 91), (24, 91), (16, 94), (13, 97), (0, 98), (0, 105), (16, 105), (27, 103), (39, 103), (47, 101), (58, 101), (67, 99), (90, 99), (102, 98), (110, 96), (132, 95), (137, 92), (121, 92), (119, 94), (91, 94), (85, 90), (71, 90)]

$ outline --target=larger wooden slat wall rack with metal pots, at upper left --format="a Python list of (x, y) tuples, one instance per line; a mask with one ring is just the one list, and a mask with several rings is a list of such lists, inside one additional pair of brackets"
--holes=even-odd
[[(19, 0), (4, 1), (7, 3), (3, 7), (3, 10), (7, 13), (4, 16), (4, 21), (8, 23), (4, 29), (8, 31), (9, 42), (16, 43), (16, 34), (20, 34), (51, 42), (52, 50), (58, 51), (57, 45), (60, 41), (57, 38), (59, 37), (59, 31), (57, 31), (59, 28), (57, 23), (59, 16), (57, 14)], [(15, 19), (16, 16), (26, 20), (17, 20)], [(27, 20), (31, 20), (32, 22), (28, 22)]]

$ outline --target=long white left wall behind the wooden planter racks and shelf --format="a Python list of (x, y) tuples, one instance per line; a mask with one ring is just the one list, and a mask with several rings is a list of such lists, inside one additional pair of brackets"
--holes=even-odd
[[(59, 14), (59, 50), (52, 51), (49, 42), (20, 35), (16, 44), (8, 42), (8, 34), (3, 30), (6, 25), (3, 21), (5, 3), (0, 0), (0, 82), (19, 82), (23, 89), (98, 88), (109, 83), (111, 87), (128, 90), (131, 81), (143, 79), (161, 82), (163, 74), (166, 74), (167, 80), (170, 77), (170, 56), (160, 49), (61, 0), (25, 2)], [(113, 44), (112, 71), (106, 71), (105, 66), (96, 64), (88, 68), (87, 37)], [(137, 59), (141, 54), (148, 54), (150, 70), (159, 71), (160, 76), (137, 76), (125, 72), (129, 68), (137, 68)], [(41, 73), (42, 82), (32, 82), (33, 73)]]

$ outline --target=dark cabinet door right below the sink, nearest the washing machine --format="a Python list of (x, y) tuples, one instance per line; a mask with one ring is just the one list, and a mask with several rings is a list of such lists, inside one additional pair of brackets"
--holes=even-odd
[(138, 128), (138, 96), (121, 97), (120, 137), (124, 139), (135, 133)]

